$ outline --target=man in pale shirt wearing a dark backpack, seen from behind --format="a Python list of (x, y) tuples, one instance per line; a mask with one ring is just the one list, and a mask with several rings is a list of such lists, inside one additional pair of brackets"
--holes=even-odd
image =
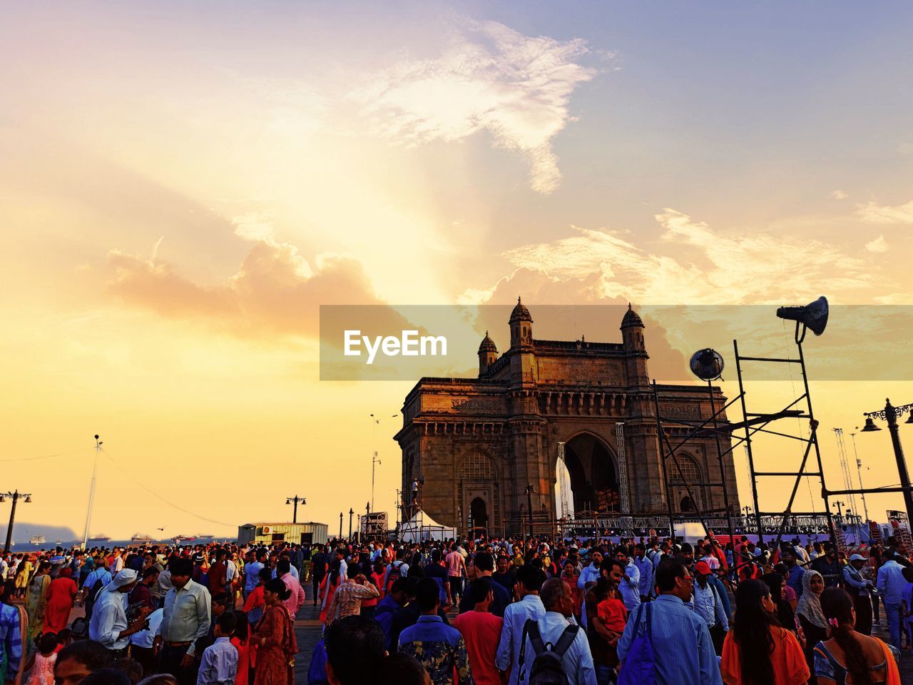
[[(586, 632), (573, 626), (568, 620), (573, 615), (571, 586), (561, 578), (551, 578), (542, 584), (542, 605), (545, 613), (536, 621), (541, 640), (540, 648), (551, 643), (552, 651), (561, 654), (561, 668), (568, 685), (596, 685), (596, 671), (593, 668), (593, 654)], [(523, 646), (522, 669), (524, 681), (529, 682), (532, 662), (536, 659), (536, 648), (529, 637)]]

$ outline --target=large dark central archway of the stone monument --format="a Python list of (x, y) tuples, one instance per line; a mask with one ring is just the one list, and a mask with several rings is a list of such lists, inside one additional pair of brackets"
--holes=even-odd
[(614, 456), (603, 442), (582, 433), (564, 446), (574, 511), (621, 511)]

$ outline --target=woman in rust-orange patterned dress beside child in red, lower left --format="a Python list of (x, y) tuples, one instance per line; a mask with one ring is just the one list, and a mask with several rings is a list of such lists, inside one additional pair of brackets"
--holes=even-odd
[(283, 602), (291, 591), (280, 578), (263, 589), (266, 610), (257, 623), (251, 642), (257, 645), (254, 685), (292, 685), (298, 643), (289, 611)]

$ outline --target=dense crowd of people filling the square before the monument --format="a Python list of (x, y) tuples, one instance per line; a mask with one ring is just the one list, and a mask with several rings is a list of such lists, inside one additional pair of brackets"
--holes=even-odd
[(898, 685), (913, 644), (899, 539), (58, 548), (0, 573), (0, 676), (26, 685), (292, 685), (295, 659), (309, 685)]

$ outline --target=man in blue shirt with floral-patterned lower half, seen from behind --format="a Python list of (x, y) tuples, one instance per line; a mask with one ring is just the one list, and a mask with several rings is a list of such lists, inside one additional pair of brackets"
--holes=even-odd
[(415, 626), (400, 633), (399, 651), (421, 661), (434, 685), (454, 685), (455, 671), (459, 685), (473, 685), (463, 636), (437, 616), (441, 599), (435, 581), (422, 578), (415, 591), (415, 600), (422, 615)]

